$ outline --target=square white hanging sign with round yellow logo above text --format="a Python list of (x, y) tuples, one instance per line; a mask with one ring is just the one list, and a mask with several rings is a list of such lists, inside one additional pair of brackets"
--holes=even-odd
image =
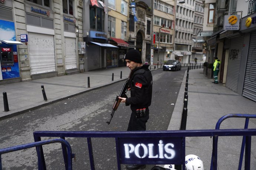
[(223, 21), (223, 30), (239, 30), (240, 15), (226, 15)]

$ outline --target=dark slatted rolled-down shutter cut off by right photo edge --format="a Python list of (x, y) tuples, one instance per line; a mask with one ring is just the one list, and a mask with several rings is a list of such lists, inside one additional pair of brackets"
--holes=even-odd
[(256, 32), (250, 36), (250, 46), (244, 76), (243, 96), (256, 101)]

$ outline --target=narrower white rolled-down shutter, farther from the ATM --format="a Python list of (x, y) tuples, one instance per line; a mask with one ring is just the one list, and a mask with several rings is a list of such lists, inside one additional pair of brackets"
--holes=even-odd
[(65, 65), (66, 69), (76, 67), (76, 38), (65, 37)]

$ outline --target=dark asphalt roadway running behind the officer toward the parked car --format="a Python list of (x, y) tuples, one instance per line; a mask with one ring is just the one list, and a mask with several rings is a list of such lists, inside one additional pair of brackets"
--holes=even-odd
[[(185, 69), (181, 71), (152, 71), (153, 95), (147, 130), (167, 130), (177, 100)], [(36, 130), (69, 131), (125, 131), (131, 110), (121, 104), (110, 125), (105, 122), (122, 82), (84, 93), (40, 109), (31, 110), (0, 122), (0, 147), (8, 147), (33, 142)], [(129, 96), (129, 92), (128, 92)], [(48, 139), (48, 138), (45, 138)], [(86, 139), (67, 139), (76, 153), (73, 169), (90, 169)], [(116, 151), (114, 139), (92, 139), (96, 169), (115, 170)], [(43, 147), (47, 169), (63, 169), (61, 146), (51, 144)], [(4, 154), (4, 169), (36, 169), (35, 148)], [(151, 165), (147, 166), (147, 169)]]

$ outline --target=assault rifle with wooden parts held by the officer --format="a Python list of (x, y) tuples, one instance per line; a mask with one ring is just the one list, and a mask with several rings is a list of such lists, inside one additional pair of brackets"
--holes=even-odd
[[(130, 88), (130, 84), (131, 84), (131, 77), (133, 75), (133, 71), (130, 72), (129, 76), (128, 76), (128, 80), (123, 84), (122, 86), (122, 89), (121, 91), (119, 92), (119, 95), (116, 96), (115, 98), (115, 103), (113, 105), (113, 108), (112, 108), (112, 112), (110, 113), (110, 119), (108, 122), (108, 125), (110, 124), (111, 122), (111, 119), (113, 118), (114, 116), (114, 113), (115, 113), (115, 110), (118, 108), (120, 102), (121, 102), (121, 99), (119, 99), (118, 97), (121, 97), (121, 98), (127, 98), (127, 95), (126, 95), (126, 92), (128, 91), (128, 89)], [(129, 106), (127, 103), (125, 103), (126, 106)]]

